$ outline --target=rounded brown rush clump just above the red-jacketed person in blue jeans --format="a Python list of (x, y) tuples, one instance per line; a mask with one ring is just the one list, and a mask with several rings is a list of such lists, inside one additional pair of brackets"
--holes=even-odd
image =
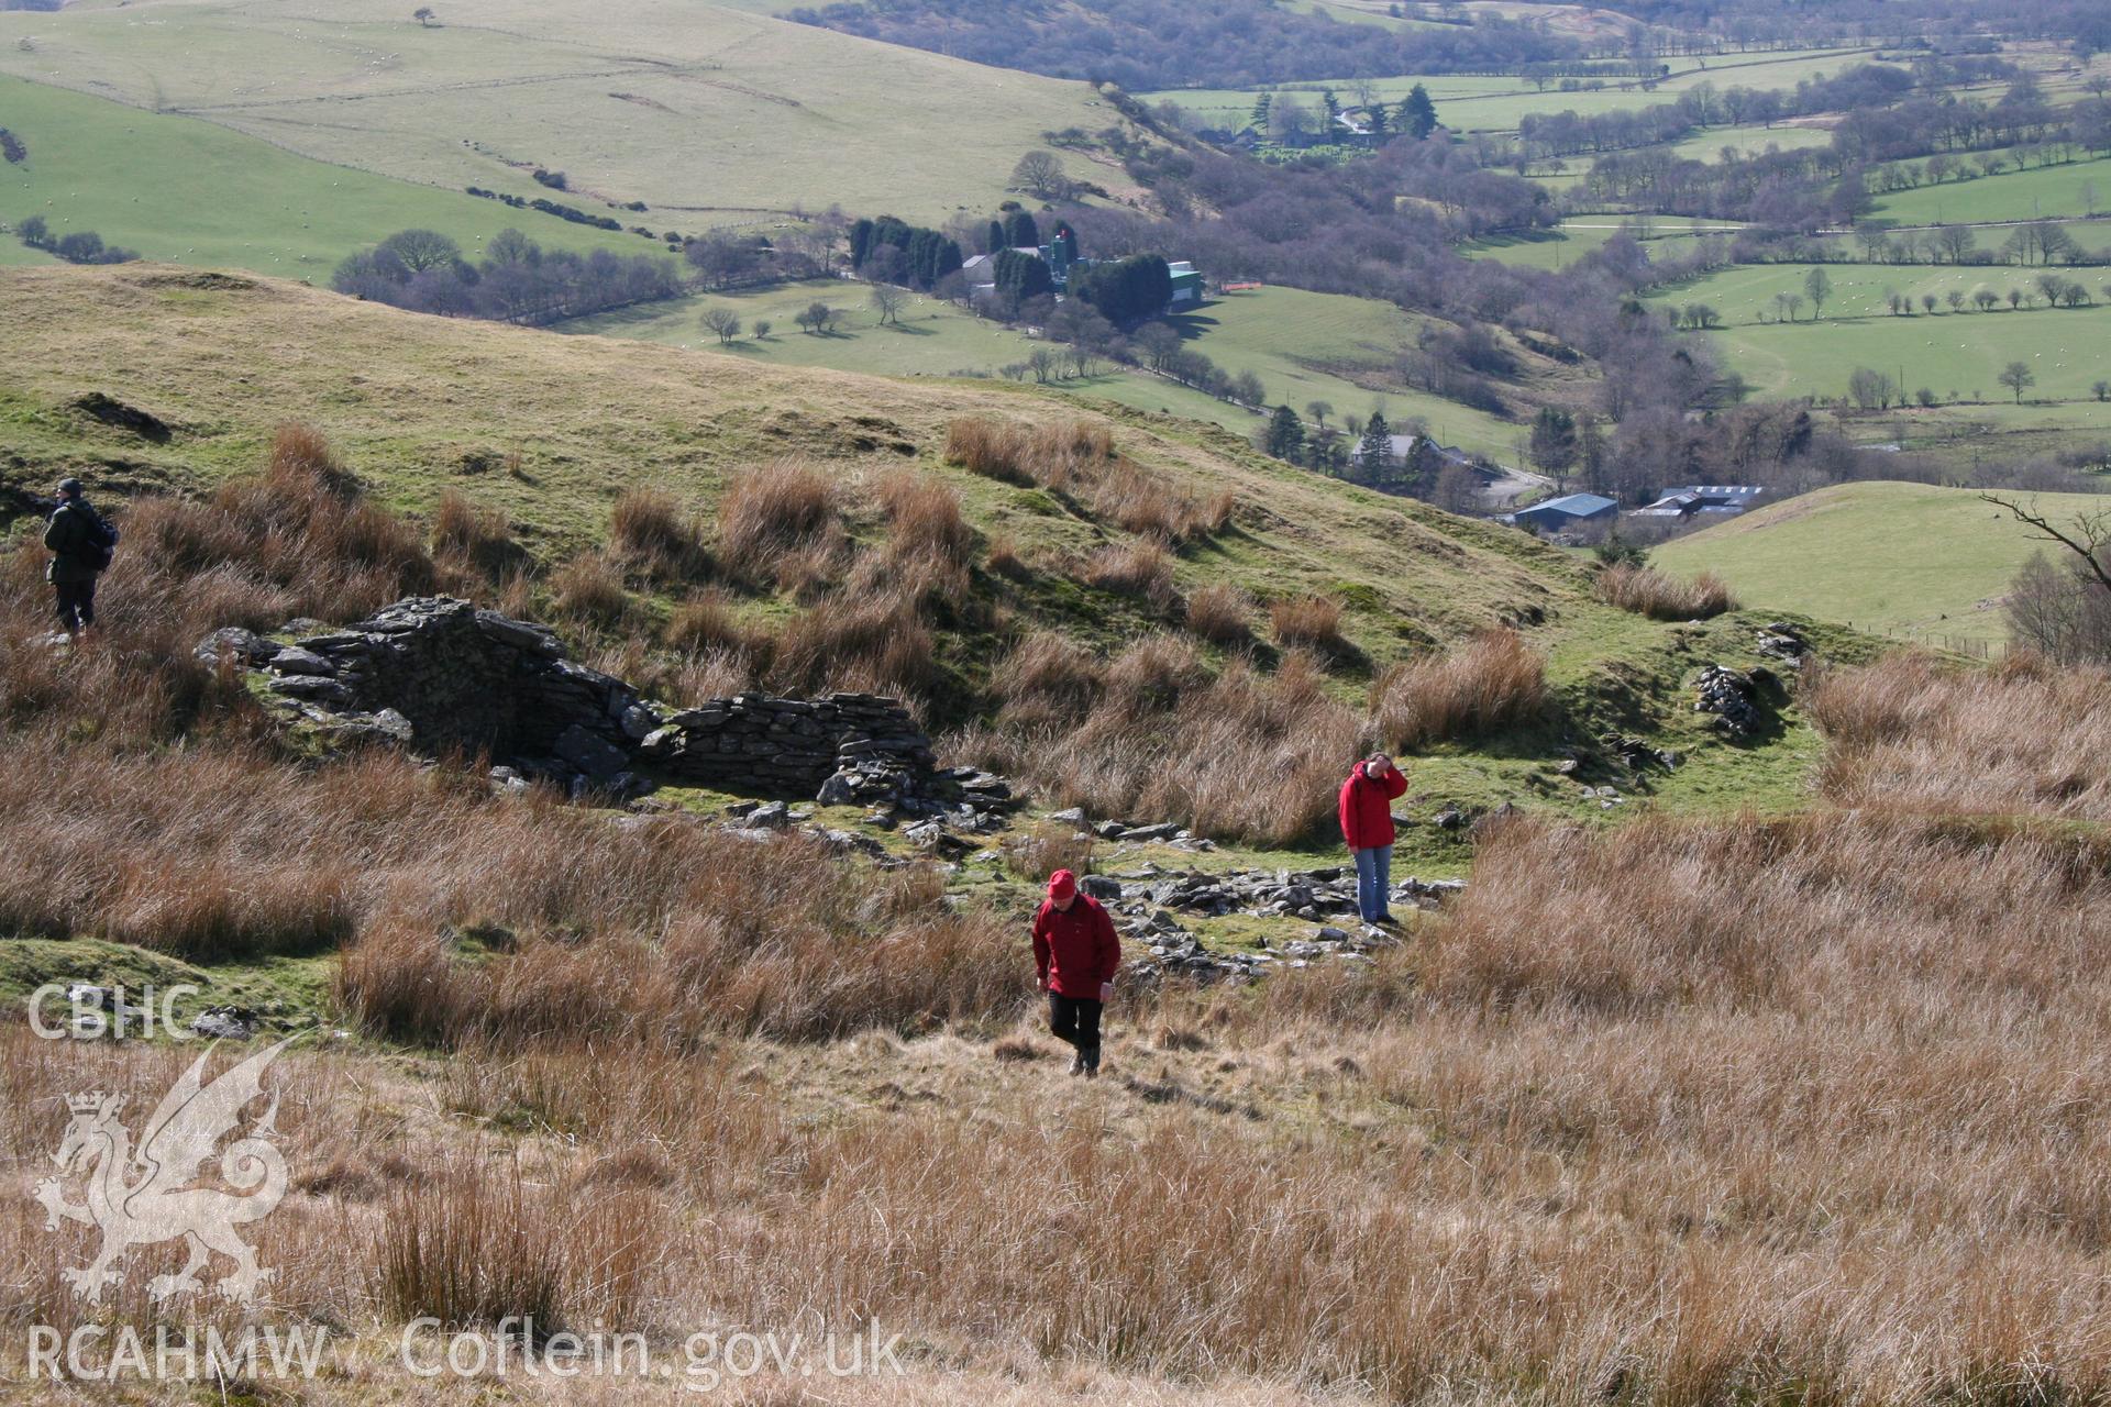
[(1370, 690), (1378, 736), (1400, 751), (1528, 728), (1545, 711), (1547, 664), (1516, 631), (1393, 664)]

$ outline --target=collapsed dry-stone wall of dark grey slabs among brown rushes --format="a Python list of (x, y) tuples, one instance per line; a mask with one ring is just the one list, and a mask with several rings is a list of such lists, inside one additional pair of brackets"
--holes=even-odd
[(931, 740), (893, 698), (739, 694), (669, 709), (568, 660), (549, 627), (452, 597), (397, 601), (291, 645), (213, 631), (198, 654), (262, 671), (287, 713), (338, 738), (488, 753), (507, 774), (574, 793), (635, 795), (650, 789), (650, 770), (726, 791), (935, 814), (963, 791), (1001, 791), (937, 772)]

